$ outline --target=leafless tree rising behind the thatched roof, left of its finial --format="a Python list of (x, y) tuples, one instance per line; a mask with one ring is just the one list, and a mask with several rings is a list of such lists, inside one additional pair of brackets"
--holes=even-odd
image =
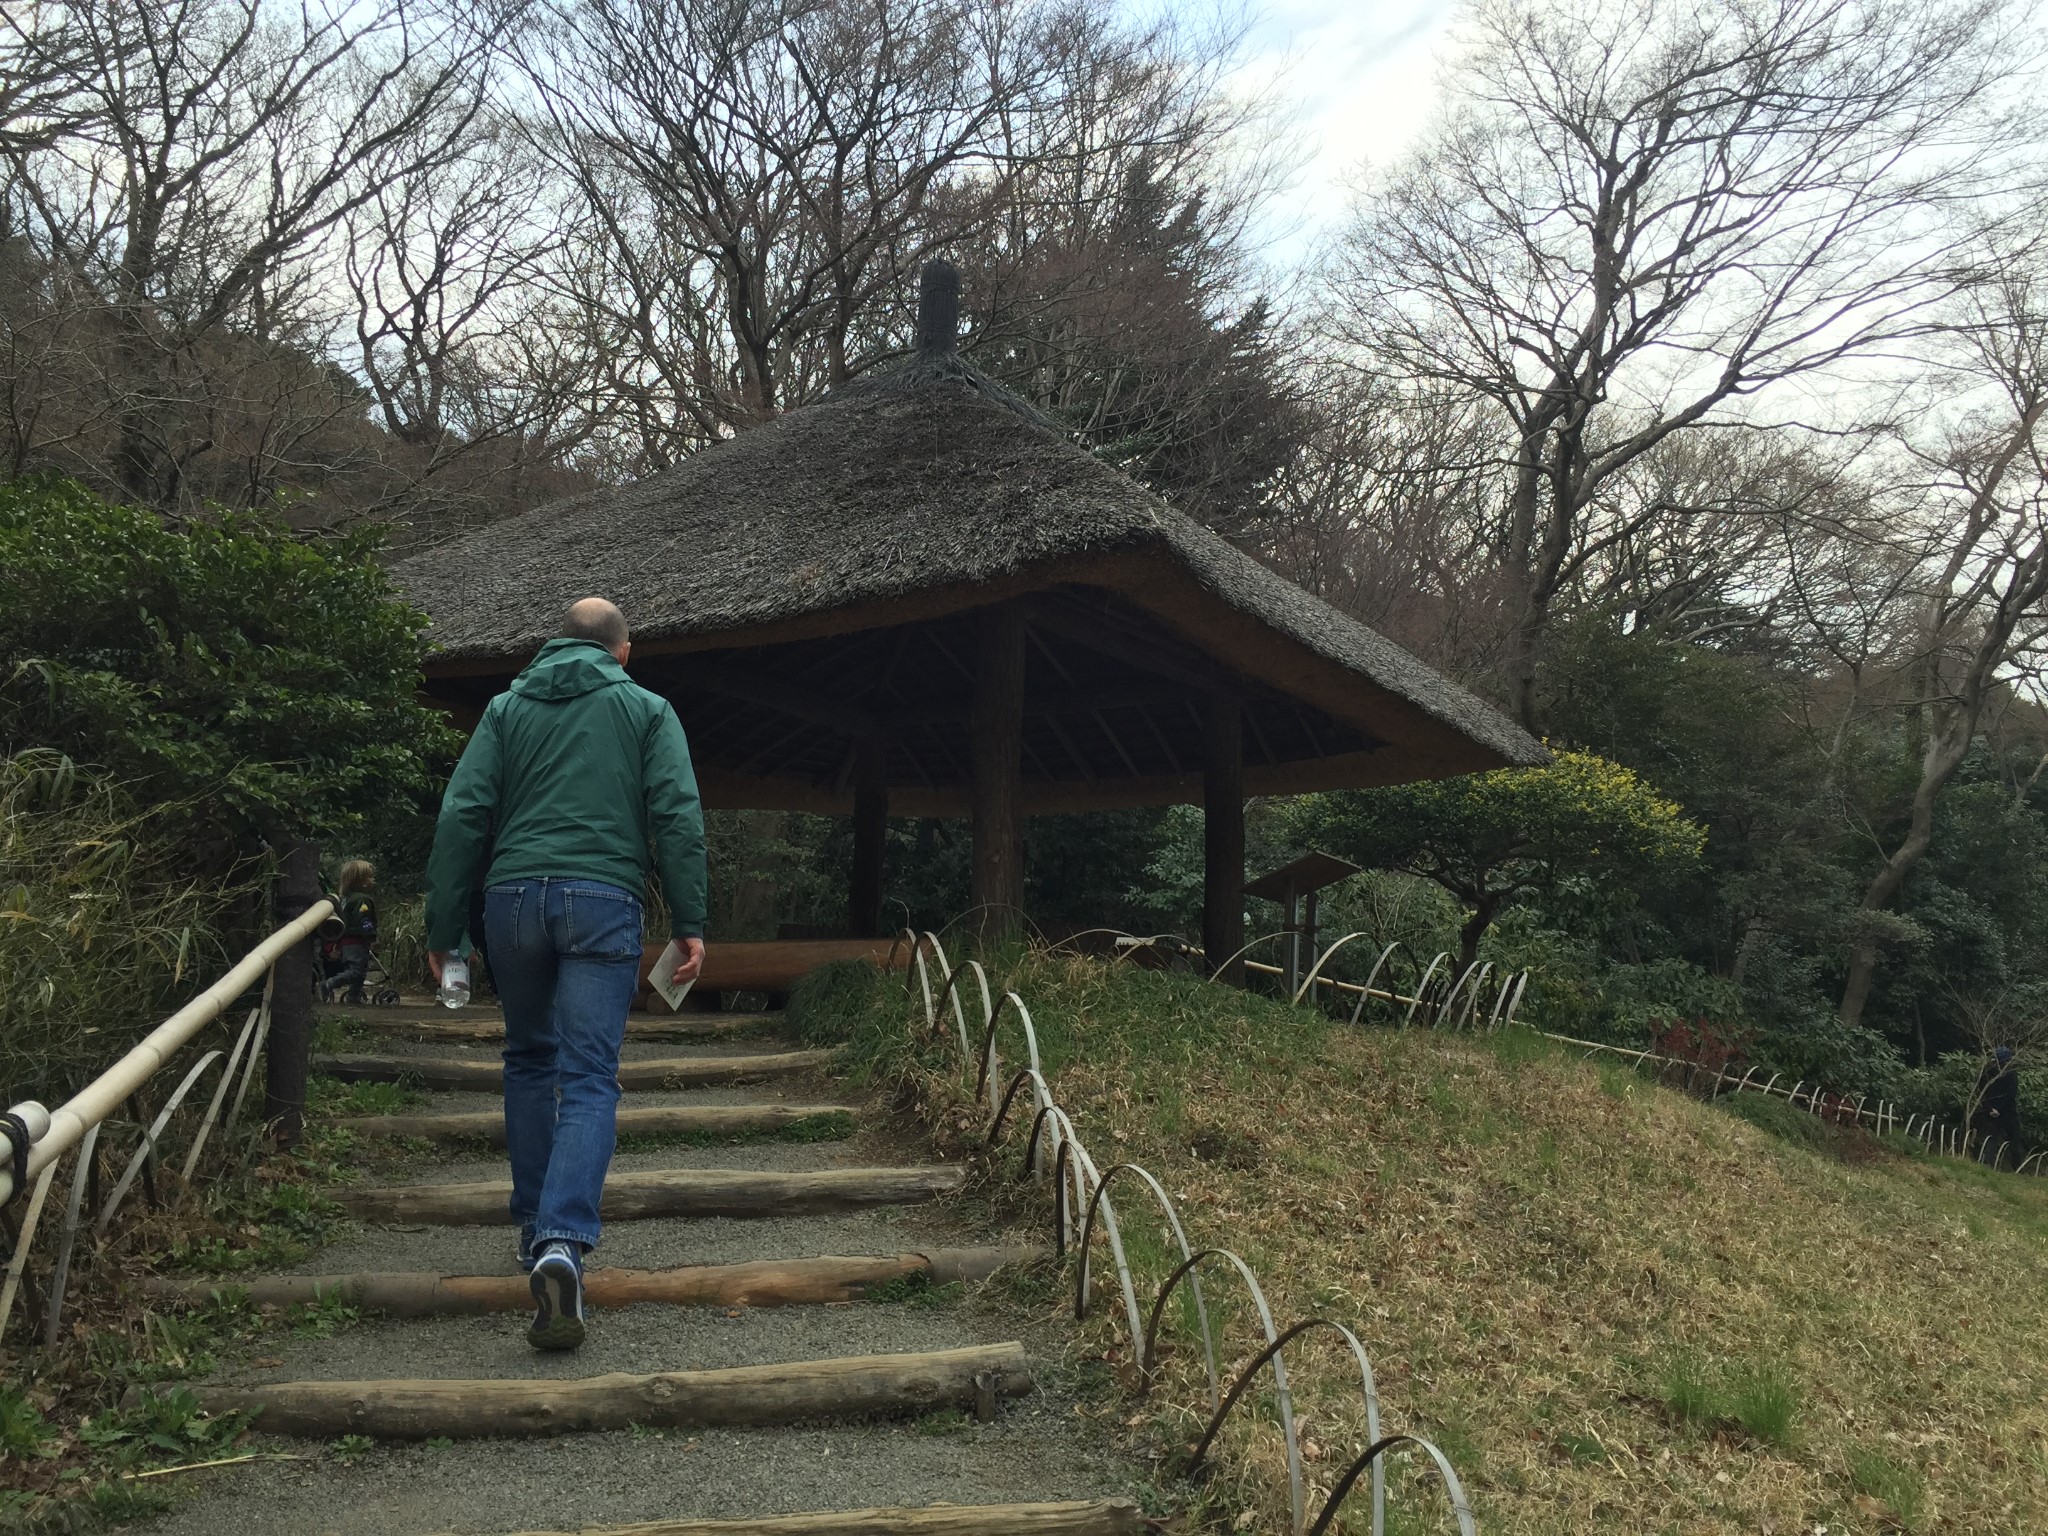
[[(1018, 0), (575, 0), (522, 49), (582, 195), (567, 291), (662, 465), (848, 379), (932, 248), (1001, 205), (1044, 88)], [(866, 356), (862, 356), (866, 352)]]

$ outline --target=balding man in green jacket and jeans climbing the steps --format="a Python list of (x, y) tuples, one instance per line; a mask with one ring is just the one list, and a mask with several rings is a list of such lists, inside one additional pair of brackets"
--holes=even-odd
[(483, 711), (440, 801), (426, 866), (434, 977), (459, 948), (489, 840), (483, 926), (506, 1016), (506, 1153), (537, 1350), (584, 1341), (584, 1253), (618, 1139), (618, 1049), (639, 985), (641, 893), (662, 874), (676, 981), (705, 963), (705, 815), (682, 723), (627, 678), (604, 598)]

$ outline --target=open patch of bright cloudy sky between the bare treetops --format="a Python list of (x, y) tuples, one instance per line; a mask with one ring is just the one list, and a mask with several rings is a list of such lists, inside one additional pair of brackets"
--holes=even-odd
[(1247, 0), (1247, 86), (1278, 86), (1300, 135), (1294, 184), (1270, 213), (1268, 260), (1298, 262), (1343, 211), (1343, 182), (1405, 145), (1430, 113), (1452, 0)]

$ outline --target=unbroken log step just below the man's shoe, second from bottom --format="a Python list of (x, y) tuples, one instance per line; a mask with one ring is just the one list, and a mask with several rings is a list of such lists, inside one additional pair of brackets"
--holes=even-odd
[[(979, 1380), (977, 1380), (979, 1378)], [(254, 1413), (266, 1434), (330, 1440), (473, 1440), (582, 1430), (662, 1430), (907, 1417), (975, 1407), (981, 1384), (1004, 1397), (1030, 1391), (1022, 1343), (932, 1354), (797, 1360), (729, 1370), (612, 1372), (578, 1380), (301, 1380), (266, 1386), (190, 1386), (207, 1413)]]

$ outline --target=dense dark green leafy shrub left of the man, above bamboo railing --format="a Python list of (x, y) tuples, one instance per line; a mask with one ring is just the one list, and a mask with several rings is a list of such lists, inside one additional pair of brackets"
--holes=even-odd
[(455, 735), (418, 700), (426, 618), (375, 551), (0, 485), (0, 752), (113, 772), (195, 864), (414, 805)]

